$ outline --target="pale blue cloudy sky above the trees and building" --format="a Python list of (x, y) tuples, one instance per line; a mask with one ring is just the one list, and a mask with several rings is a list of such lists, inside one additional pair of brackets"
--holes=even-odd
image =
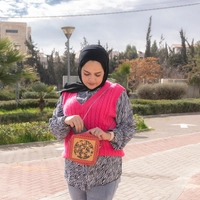
[[(193, 5), (191, 5), (193, 4)], [(149, 18), (151, 41), (161, 35), (169, 46), (181, 43), (183, 29), (189, 42), (200, 41), (200, 1), (188, 0), (4, 0), (0, 20), (27, 22), (40, 51), (62, 55), (67, 41), (61, 27), (74, 26), (70, 47), (79, 51), (83, 37), (89, 44), (125, 51), (128, 44), (144, 51)]]

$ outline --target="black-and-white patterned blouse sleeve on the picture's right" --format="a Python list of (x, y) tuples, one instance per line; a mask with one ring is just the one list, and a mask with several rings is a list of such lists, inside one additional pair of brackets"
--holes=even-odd
[(133, 138), (136, 132), (132, 106), (125, 91), (118, 99), (116, 112), (117, 125), (113, 130), (114, 139), (112, 140), (111, 144), (114, 149), (123, 149), (125, 145)]

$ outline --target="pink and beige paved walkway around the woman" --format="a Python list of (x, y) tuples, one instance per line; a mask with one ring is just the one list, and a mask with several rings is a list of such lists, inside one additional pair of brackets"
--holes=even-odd
[[(114, 200), (200, 199), (200, 113), (145, 118), (125, 148)], [(70, 200), (62, 143), (0, 147), (1, 200)]]

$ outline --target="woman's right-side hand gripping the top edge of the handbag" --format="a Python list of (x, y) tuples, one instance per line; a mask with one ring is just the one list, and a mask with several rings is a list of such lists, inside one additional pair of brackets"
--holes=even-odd
[(92, 135), (98, 137), (99, 140), (111, 141), (113, 139), (113, 137), (114, 137), (114, 133), (113, 132), (104, 132), (103, 130), (101, 130), (98, 127), (92, 128), (92, 129), (88, 130), (88, 132), (90, 132)]

